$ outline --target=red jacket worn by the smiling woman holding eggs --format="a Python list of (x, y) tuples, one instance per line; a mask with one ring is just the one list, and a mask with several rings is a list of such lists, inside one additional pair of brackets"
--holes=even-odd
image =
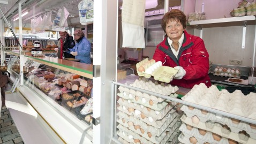
[(173, 79), (172, 85), (185, 88), (192, 88), (194, 85), (205, 83), (210, 87), (209, 54), (205, 48), (204, 41), (198, 36), (188, 34), (184, 31), (184, 40), (179, 50), (178, 59), (172, 53), (167, 36), (156, 46), (153, 56), (156, 62), (161, 61), (164, 66), (182, 66), (186, 71), (184, 77), (180, 80)]

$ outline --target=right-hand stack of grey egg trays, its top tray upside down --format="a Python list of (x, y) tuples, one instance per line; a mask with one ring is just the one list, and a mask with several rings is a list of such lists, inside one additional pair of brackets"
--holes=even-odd
[[(244, 95), (240, 90), (229, 93), (216, 86), (195, 85), (182, 99), (219, 109), (235, 115), (255, 119), (256, 94)], [(206, 110), (183, 105), (185, 114), (179, 130), (182, 143), (256, 143), (256, 125)]]

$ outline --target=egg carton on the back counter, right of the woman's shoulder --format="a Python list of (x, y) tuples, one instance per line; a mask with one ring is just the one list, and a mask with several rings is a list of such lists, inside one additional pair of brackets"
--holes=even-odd
[(239, 69), (230, 69), (223, 67), (215, 67), (213, 71), (213, 75), (222, 76), (222, 77), (230, 77), (230, 78), (240, 78), (241, 73)]

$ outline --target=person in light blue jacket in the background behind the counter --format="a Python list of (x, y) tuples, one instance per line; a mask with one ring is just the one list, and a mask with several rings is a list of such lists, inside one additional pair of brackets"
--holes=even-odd
[(74, 31), (74, 39), (77, 41), (74, 48), (69, 49), (76, 59), (80, 59), (81, 63), (91, 64), (91, 43), (85, 38), (84, 32), (77, 29)]

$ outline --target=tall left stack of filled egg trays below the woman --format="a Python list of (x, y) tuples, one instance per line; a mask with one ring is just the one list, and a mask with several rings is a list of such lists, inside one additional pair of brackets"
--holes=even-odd
[[(162, 94), (175, 97), (177, 87), (139, 79), (131, 86), (157, 87)], [(146, 88), (147, 87), (147, 88)], [(120, 86), (117, 101), (117, 135), (121, 143), (177, 143), (180, 115), (175, 102)], [(167, 92), (167, 89), (169, 90)]]

